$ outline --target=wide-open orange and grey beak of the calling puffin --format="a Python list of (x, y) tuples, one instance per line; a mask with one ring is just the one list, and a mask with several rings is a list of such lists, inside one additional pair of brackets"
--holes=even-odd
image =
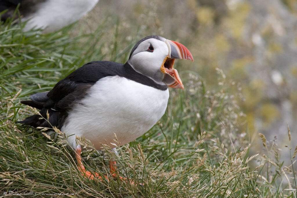
[(161, 72), (165, 74), (162, 82), (165, 83), (168, 87), (173, 88), (184, 88), (183, 83), (178, 75), (176, 69), (173, 69), (175, 59), (185, 59), (194, 61), (190, 51), (182, 45), (181, 43), (166, 40), (166, 44), (169, 49), (168, 56), (164, 59), (161, 66)]

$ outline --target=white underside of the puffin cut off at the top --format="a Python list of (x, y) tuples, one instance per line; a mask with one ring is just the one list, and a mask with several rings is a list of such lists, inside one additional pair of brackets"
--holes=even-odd
[(44, 32), (51, 32), (67, 26), (86, 13), (97, 4), (99, 0), (47, 0), (37, 5), (38, 9), (23, 18), (30, 19), (24, 31), (32, 28), (45, 28)]

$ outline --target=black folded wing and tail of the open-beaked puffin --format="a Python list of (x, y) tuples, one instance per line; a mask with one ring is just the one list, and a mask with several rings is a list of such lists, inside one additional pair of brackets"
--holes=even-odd
[(40, 114), (43, 118), (47, 117), (48, 112), (49, 123), (39, 119), (40, 115), (32, 115), (18, 123), (33, 127), (56, 126), (61, 129), (73, 104), (86, 96), (87, 90), (99, 79), (117, 75), (122, 67), (123, 64), (110, 61), (93, 61), (80, 67), (60, 80), (51, 91), (33, 94), (30, 96), (32, 101), (21, 101), (23, 104), (41, 109)]

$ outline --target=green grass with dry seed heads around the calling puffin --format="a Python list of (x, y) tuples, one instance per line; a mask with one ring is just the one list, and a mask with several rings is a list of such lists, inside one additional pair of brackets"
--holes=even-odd
[[(185, 89), (170, 89), (162, 119), (118, 148), (119, 156), (108, 147), (104, 155), (83, 151), (87, 170), (109, 174), (108, 159), (116, 159), (120, 175), (143, 186), (84, 178), (63, 134), (53, 141), (16, 124), (35, 112), (20, 100), (50, 90), (89, 61), (110, 54), (117, 55), (112, 61), (127, 60), (136, 40), (119, 42), (124, 39), (117, 31), (110, 40), (100, 40), (105, 27), (102, 23), (94, 34), (70, 37), (72, 26), (50, 34), (23, 33), (22, 25), (11, 22), (0, 26), (0, 196), (11, 191), (24, 197), (30, 192), (30, 197), (296, 197), (293, 174), (282, 166), (275, 145), (262, 136), (266, 155), (250, 156), (252, 142), (248, 130), (241, 131), (244, 116), (237, 96), (228, 94), (237, 85), (221, 70), (214, 74), (216, 90), (208, 90), (194, 72), (181, 73)], [(105, 44), (113, 47), (103, 53)], [(82, 145), (92, 147), (87, 140)]]

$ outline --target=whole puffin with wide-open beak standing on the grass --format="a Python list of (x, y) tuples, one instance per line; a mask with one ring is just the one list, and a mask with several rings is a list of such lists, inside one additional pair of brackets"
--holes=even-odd
[[(98, 173), (85, 170), (76, 136), (89, 139), (97, 150), (106, 143), (114, 149), (114, 134), (120, 142), (117, 146), (121, 146), (151, 129), (165, 113), (168, 87), (184, 88), (173, 68), (175, 59), (193, 61), (193, 56), (181, 43), (155, 35), (145, 37), (132, 48), (125, 64), (89, 62), (60, 80), (52, 90), (21, 101), (39, 109), (43, 118), (48, 112), (49, 119), (32, 115), (18, 123), (56, 126), (68, 136), (82, 175), (102, 179)], [(116, 163), (109, 163), (111, 175), (116, 177)]]

